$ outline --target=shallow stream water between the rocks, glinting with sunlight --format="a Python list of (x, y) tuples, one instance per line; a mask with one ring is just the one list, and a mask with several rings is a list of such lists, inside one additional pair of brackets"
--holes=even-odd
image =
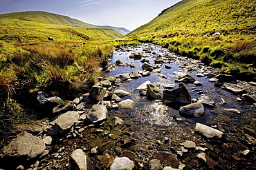
[[(145, 48), (150, 48), (151, 52), (143, 52), (143, 49)], [(184, 153), (181, 158), (179, 157), (180, 164), (182, 162), (186, 165), (184, 169), (255, 168), (253, 167), (253, 164), (255, 163), (255, 145), (249, 145), (245, 135), (253, 136), (255, 138), (256, 109), (237, 100), (237, 97), (239, 96), (227, 92), (222, 88), (214, 87), (214, 83), (208, 81), (210, 78), (195, 76), (197, 73), (206, 72), (207, 70), (213, 70), (214, 74), (218, 74), (220, 72), (218, 69), (207, 67), (200, 63), (200, 61), (194, 61), (193, 59), (178, 56), (156, 45), (143, 44), (140, 45), (140, 47), (129, 47), (129, 50), (127, 51), (119, 50), (114, 52), (111, 63), (115, 63), (120, 59), (123, 63), (134, 63), (136, 67), (115, 67), (116, 70), (106, 73), (105, 77), (130, 73), (131, 71), (142, 71), (141, 66), (143, 63), (141, 63), (140, 60), (129, 58), (129, 56), (134, 53), (146, 54), (149, 56), (146, 59), (148, 59), (149, 63), (152, 65), (154, 65), (154, 54), (172, 56), (173, 58), (170, 63), (161, 66), (161, 74), (167, 76), (166, 79), (158, 76), (159, 73), (152, 73), (150, 76), (132, 79), (132, 81), (122, 83), (122, 85), (116, 87), (116, 89), (124, 89), (131, 93), (130, 96), (122, 99), (129, 98), (134, 100), (134, 107), (132, 109), (109, 111), (109, 116), (119, 116), (125, 120), (125, 124), (134, 134), (136, 141), (149, 144), (146, 147), (150, 146), (149, 154), (151, 155), (147, 156), (147, 158), (159, 157), (154, 156), (154, 153), (158, 151), (172, 151), (172, 153), (176, 153), (176, 151), (181, 150), (182, 142), (185, 140), (192, 140), (196, 142), (196, 145), (210, 145), (206, 154), (217, 163), (214, 163), (215, 166), (212, 166), (212, 164), (205, 164), (205, 162), (202, 162), (195, 157), (196, 153), (194, 151), (189, 151), (188, 153)], [(172, 68), (166, 69), (165, 65), (170, 65)], [(203, 94), (209, 96), (214, 101), (215, 105), (213, 108), (205, 107), (205, 116), (201, 118), (185, 118), (181, 121), (177, 121), (174, 118), (182, 118), (182, 116), (179, 115), (179, 105), (168, 106), (161, 100), (149, 100), (146, 96), (140, 96), (138, 90), (135, 90), (136, 87), (145, 81), (150, 81), (152, 84), (157, 85), (159, 89), (163, 90), (165, 85), (175, 83), (176, 75), (174, 72), (179, 71), (185, 71), (191, 76), (194, 76), (196, 81), (203, 83), (202, 86), (186, 84), (190, 90), (192, 98), (199, 98), (201, 96), (201, 94), (198, 94), (200, 90), (196, 89), (201, 89), (203, 90)], [(178, 87), (179, 83), (175, 84), (176, 87)], [(221, 105), (221, 98), (226, 100), (226, 105)], [(224, 110), (230, 108), (238, 109), (241, 114), (235, 114)], [(203, 138), (194, 131), (196, 123), (202, 123), (223, 131), (225, 138), (221, 140), (209, 140)], [(169, 146), (163, 144), (165, 137), (170, 140), (170, 142), (168, 142)], [(248, 153), (248, 155), (243, 155), (242, 152), (246, 149), (250, 150), (250, 153)], [(197, 152), (200, 153), (200, 151)], [(161, 158), (159, 159), (161, 160)], [(176, 164), (170, 163), (169, 165), (177, 168), (175, 167), (177, 166)]]

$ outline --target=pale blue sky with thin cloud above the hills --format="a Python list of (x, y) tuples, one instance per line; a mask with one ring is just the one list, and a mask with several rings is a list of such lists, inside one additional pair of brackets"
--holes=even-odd
[(181, 0), (0, 0), (0, 14), (46, 11), (132, 31)]

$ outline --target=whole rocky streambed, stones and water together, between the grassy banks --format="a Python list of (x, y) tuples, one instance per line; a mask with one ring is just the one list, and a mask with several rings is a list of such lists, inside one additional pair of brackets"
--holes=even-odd
[(152, 44), (116, 49), (102, 70), (3, 148), (0, 169), (255, 169), (255, 83)]

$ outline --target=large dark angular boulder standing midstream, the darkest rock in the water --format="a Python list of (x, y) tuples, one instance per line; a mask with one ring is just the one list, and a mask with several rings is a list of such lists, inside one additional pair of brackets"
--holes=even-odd
[(188, 91), (188, 88), (185, 85), (173, 90), (164, 89), (163, 98), (182, 104), (191, 103), (190, 91)]

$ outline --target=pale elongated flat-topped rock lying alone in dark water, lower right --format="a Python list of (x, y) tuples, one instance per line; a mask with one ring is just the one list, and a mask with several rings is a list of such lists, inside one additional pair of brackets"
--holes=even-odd
[(206, 138), (214, 138), (214, 136), (216, 136), (217, 138), (222, 138), (223, 136), (222, 131), (219, 131), (212, 127), (208, 127), (207, 125), (203, 125), (201, 123), (196, 123), (195, 130), (198, 131), (199, 134), (205, 136)]

